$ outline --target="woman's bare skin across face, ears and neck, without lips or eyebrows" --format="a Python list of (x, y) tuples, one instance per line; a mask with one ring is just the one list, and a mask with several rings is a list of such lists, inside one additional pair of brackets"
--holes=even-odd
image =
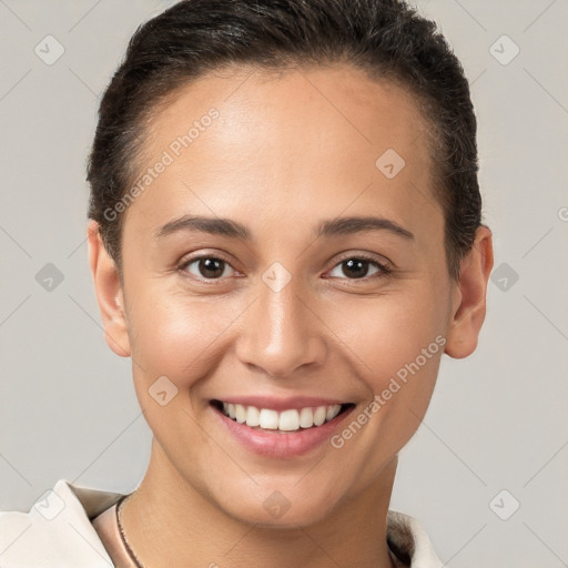
[[(427, 124), (399, 87), (343, 64), (209, 74), (161, 106), (144, 169), (213, 106), (220, 116), (128, 209), (122, 282), (89, 224), (106, 339), (132, 357), (154, 434), (146, 475), (124, 505), (126, 536), (156, 568), (392, 566), (385, 519), (396, 456), (427, 409), (443, 351), (458, 358), (476, 348), (490, 231), (479, 227), (460, 281), (450, 281)], [(406, 162), (393, 179), (375, 166), (387, 149)], [(185, 214), (237, 221), (253, 240), (155, 237)], [(322, 220), (368, 215), (414, 239), (386, 230), (314, 236)], [(362, 253), (392, 273), (372, 263), (363, 278), (344, 272)], [(222, 275), (203, 282), (197, 262), (183, 266), (200, 255), (226, 261)], [(292, 278), (281, 292), (262, 278), (275, 262)], [(444, 348), (339, 449), (256, 455), (209, 404), (320, 396), (355, 403), (356, 418), (436, 337)], [(178, 388), (165, 406), (149, 393), (161, 376)], [(290, 503), (280, 518), (263, 507), (275, 490)]]

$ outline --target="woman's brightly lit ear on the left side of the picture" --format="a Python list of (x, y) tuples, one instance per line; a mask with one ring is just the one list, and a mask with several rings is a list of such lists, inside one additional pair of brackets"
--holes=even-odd
[(104, 338), (109, 347), (121, 357), (130, 356), (130, 338), (124, 314), (124, 296), (119, 272), (110, 257), (99, 231), (99, 223), (89, 220), (89, 264), (94, 281), (94, 291), (101, 311)]

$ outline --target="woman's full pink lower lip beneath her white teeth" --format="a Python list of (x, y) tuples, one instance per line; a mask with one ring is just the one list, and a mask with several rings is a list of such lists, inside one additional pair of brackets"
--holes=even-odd
[(352, 406), (322, 426), (295, 432), (277, 433), (275, 430), (257, 430), (225, 416), (217, 408), (213, 412), (221, 418), (227, 430), (245, 448), (270, 457), (290, 458), (307, 454), (310, 450), (326, 443), (355, 407)]

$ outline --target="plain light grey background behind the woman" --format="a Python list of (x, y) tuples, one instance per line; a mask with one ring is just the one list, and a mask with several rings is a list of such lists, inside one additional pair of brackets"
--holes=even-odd
[[(0, 510), (60, 478), (130, 491), (145, 470), (130, 361), (103, 341), (88, 270), (84, 161), (128, 39), (171, 3), (0, 0)], [(443, 359), (392, 508), (452, 567), (568, 566), (568, 2), (419, 7), (473, 82), (496, 271), (478, 351)]]

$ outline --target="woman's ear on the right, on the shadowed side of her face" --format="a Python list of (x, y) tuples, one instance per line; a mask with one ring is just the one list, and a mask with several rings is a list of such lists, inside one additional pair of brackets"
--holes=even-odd
[(467, 357), (477, 347), (485, 320), (487, 282), (491, 268), (491, 231), (481, 225), (477, 229), (471, 250), (462, 261), (459, 282), (455, 284), (445, 347), (445, 353), (450, 357)]

